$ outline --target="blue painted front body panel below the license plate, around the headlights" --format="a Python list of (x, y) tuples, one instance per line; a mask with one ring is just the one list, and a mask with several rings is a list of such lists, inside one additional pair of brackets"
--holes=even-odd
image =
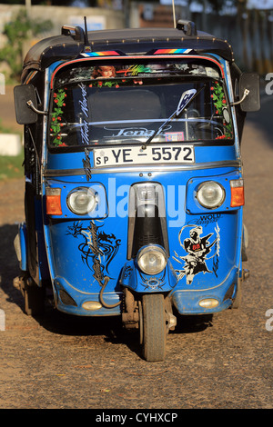
[[(209, 148), (207, 148), (207, 151)], [(77, 154), (83, 157), (83, 154)], [(76, 155), (73, 154), (75, 164)], [(81, 159), (80, 159), (81, 160)], [(80, 163), (80, 162), (79, 162)], [(103, 273), (110, 277), (104, 293), (111, 303), (120, 300), (122, 285), (131, 288), (137, 293), (170, 292), (173, 301), (180, 313), (206, 313), (197, 305), (197, 301), (207, 298), (208, 295), (219, 300), (217, 310), (225, 309), (232, 303), (229, 299), (223, 303), (227, 289), (236, 285), (240, 270), (240, 249), (242, 238), (242, 208), (230, 208), (230, 179), (236, 179), (240, 173), (235, 168), (216, 168), (197, 171), (179, 171), (175, 173), (153, 172), (148, 177), (135, 173), (99, 174), (99, 181), (104, 188), (102, 201), (107, 209), (102, 209), (99, 217), (90, 218), (88, 215), (66, 215), (64, 209), (62, 217), (52, 217), (48, 222), (45, 218), (45, 242), (48, 261), (53, 282), (58, 282), (76, 301), (77, 306), (60, 306), (69, 313), (90, 315), (81, 308), (85, 301), (99, 301), (101, 286), (96, 280), (94, 271), (95, 255), (92, 252), (92, 226), (96, 227), (96, 238), (102, 251), (100, 263)], [(217, 178), (216, 178), (217, 177)], [(210, 179), (216, 179), (226, 190), (226, 201), (213, 212), (197, 205), (193, 193), (197, 184)], [(72, 187), (85, 184), (87, 187), (96, 185), (97, 175), (86, 181), (86, 176), (67, 176), (46, 181), (46, 185), (62, 189), (62, 200)], [(136, 182), (155, 181), (165, 187), (169, 253), (167, 271), (157, 274), (156, 277), (139, 273), (134, 260), (126, 260), (128, 220), (126, 204), (128, 203), (128, 188)], [(116, 188), (124, 185), (125, 193), (111, 200)], [(178, 190), (179, 188), (179, 190)], [(173, 206), (172, 195), (178, 192), (176, 200), (178, 206)], [(104, 199), (106, 197), (106, 200)], [(105, 203), (107, 202), (107, 203)], [(64, 205), (64, 204), (63, 204)], [(120, 208), (120, 209), (119, 209)], [(119, 214), (119, 215), (118, 215)], [(121, 215), (120, 215), (121, 214)], [(93, 224), (93, 225), (92, 225)], [(189, 231), (195, 227), (202, 227), (200, 237), (210, 235), (208, 243), (213, 243), (211, 252), (207, 254), (206, 272), (197, 273), (192, 283), (187, 283), (183, 275), (187, 252), (183, 241), (189, 237)], [(91, 248), (91, 249), (90, 249)], [(128, 272), (130, 274), (128, 274)], [(176, 273), (175, 273), (176, 272)], [(164, 275), (164, 281), (162, 281)], [(56, 293), (58, 286), (55, 285)], [(56, 301), (58, 301), (56, 297)], [(98, 312), (98, 313), (97, 313)], [(93, 315), (103, 314), (103, 311), (92, 312)], [(210, 311), (211, 312), (211, 311)], [(108, 313), (108, 312), (107, 312)], [(120, 313), (120, 307), (111, 309), (111, 313)]]

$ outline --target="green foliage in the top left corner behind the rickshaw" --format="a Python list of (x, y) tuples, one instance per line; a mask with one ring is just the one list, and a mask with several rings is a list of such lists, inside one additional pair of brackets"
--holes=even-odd
[(36, 21), (30, 19), (24, 9), (15, 16), (14, 21), (5, 25), (4, 34), (7, 37), (5, 46), (0, 49), (0, 61), (5, 61), (11, 69), (11, 78), (20, 80), (23, 64), (24, 42), (43, 31), (52, 28), (51, 21)]

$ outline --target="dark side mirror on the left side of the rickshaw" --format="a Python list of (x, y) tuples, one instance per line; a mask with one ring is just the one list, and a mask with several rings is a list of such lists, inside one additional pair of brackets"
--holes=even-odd
[[(18, 124), (36, 123), (38, 115), (29, 105), (29, 101), (37, 107), (35, 87), (32, 84), (20, 84), (14, 88), (15, 114)], [(28, 104), (27, 104), (28, 103)]]

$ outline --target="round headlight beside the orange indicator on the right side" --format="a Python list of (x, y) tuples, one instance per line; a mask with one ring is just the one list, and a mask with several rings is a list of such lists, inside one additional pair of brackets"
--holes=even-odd
[(207, 209), (216, 209), (225, 200), (225, 190), (214, 181), (207, 181), (197, 189), (197, 201)]

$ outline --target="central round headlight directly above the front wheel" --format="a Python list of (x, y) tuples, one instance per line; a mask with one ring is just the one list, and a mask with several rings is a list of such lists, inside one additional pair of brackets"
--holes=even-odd
[(167, 255), (163, 248), (151, 244), (139, 251), (137, 263), (143, 273), (157, 274), (165, 269)]

